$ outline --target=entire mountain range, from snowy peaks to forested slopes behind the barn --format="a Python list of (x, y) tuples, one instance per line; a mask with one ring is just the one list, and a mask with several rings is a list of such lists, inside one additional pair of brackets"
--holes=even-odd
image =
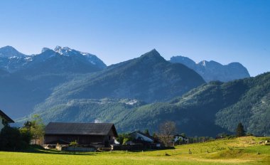
[[(247, 69), (237, 63), (222, 67), (244, 71), (238, 77), (220, 69), (211, 73), (215, 65), (205, 63), (205, 73), (212, 75), (207, 79), (155, 49), (106, 66), (96, 55), (68, 47), (24, 55), (6, 46), (0, 48), (0, 106), (17, 124), (39, 114), (45, 122), (114, 122), (119, 132), (156, 132), (158, 124), (173, 120), (179, 132), (215, 136), (234, 132), (242, 122), (249, 132), (269, 134), (269, 124), (259, 123), (269, 114), (269, 73), (234, 80), (242, 73), (249, 77)], [(219, 72), (223, 76), (217, 78)], [(212, 81), (221, 78), (227, 80)]]

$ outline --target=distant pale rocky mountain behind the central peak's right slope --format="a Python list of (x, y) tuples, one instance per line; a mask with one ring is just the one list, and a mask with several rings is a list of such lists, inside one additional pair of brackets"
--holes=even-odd
[(232, 80), (249, 78), (247, 68), (241, 63), (229, 63), (222, 65), (213, 60), (202, 60), (200, 63), (195, 63), (190, 58), (183, 56), (173, 56), (170, 60), (171, 63), (182, 63), (199, 73), (206, 82), (219, 80), (222, 82), (229, 82)]

